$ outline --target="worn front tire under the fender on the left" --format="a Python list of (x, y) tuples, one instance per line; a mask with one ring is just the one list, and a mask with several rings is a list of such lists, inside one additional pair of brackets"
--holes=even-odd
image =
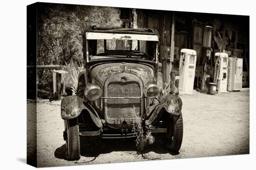
[(80, 137), (79, 126), (76, 118), (67, 120), (67, 158), (70, 160), (79, 160), (80, 155)]

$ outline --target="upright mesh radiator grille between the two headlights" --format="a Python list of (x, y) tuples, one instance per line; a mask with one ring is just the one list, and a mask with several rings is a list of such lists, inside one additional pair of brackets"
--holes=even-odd
[[(137, 82), (110, 82), (107, 97), (140, 97), (141, 88)], [(107, 99), (107, 115), (109, 119), (135, 118), (141, 112), (140, 98)]]

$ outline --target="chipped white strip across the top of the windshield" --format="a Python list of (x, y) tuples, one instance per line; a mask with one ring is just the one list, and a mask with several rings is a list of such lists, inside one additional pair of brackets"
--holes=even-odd
[(86, 32), (87, 39), (123, 39), (123, 40), (142, 40), (142, 41), (158, 41), (157, 35), (145, 34), (118, 34), (118, 33), (102, 33), (102, 32)]

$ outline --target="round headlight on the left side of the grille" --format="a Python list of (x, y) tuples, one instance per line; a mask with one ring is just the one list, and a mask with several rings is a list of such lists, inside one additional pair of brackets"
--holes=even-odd
[(101, 94), (100, 86), (94, 83), (89, 83), (84, 90), (84, 95), (89, 101), (96, 101), (101, 97)]

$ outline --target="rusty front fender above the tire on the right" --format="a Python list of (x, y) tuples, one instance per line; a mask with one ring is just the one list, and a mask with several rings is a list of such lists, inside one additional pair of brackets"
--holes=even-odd
[(146, 124), (151, 124), (163, 108), (166, 112), (179, 116), (182, 113), (182, 100), (177, 95), (168, 94), (148, 111), (149, 119), (146, 120)]

